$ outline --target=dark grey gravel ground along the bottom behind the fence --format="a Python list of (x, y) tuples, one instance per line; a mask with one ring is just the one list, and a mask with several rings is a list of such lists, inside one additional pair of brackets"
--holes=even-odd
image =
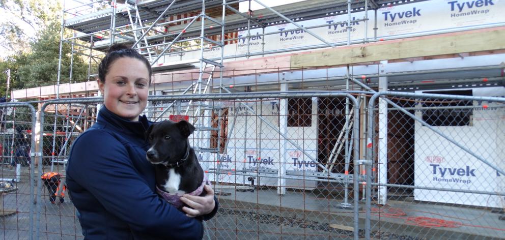
[[(47, 167), (47, 166), (46, 166)], [(22, 170), (26, 170), (22, 168)], [(12, 170), (5, 170), (0, 166), (0, 175), (4, 178), (14, 177)], [(35, 174), (35, 176), (39, 176)], [(38, 178), (38, 177), (37, 177)], [(30, 207), (41, 207), (40, 239), (80, 239), (80, 225), (74, 216), (74, 208), (70, 201), (63, 204), (50, 204), (47, 192), (44, 190), (41, 202), (34, 205), (30, 198), (30, 181), (27, 171), (22, 172), (22, 181), (17, 184), (19, 191), (4, 196), (3, 205), (6, 208), (17, 209), (18, 213), (0, 218), (0, 239), (26, 239), (30, 225)], [(268, 195), (265, 195), (268, 197)], [(67, 200), (67, 199), (66, 199)], [(225, 204), (226, 205), (226, 204)], [(207, 233), (204, 239), (232, 240), (232, 239), (352, 239), (353, 232), (332, 228), (330, 224), (350, 226), (352, 217), (335, 216), (331, 221), (315, 212), (305, 212), (302, 215), (288, 212), (256, 211), (249, 205), (233, 201), (230, 207), (219, 208), (215, 218), (206, 222)], [(275, 208), (276, 209), (276, 208)], [(34, 209), (36, 210), (36, 209)], [(468, 209), (463, 209), (468, 211)], [(459, 209), (458, 209), (459, 211)], [(479, 213), (480, 214), (480, 213)], [(493, 214), (488, 214), (495, 216)], [(473, 216), (473, 215), (472, 215)], [(479, 215), (482, 216), (482, 215)], [(487, 215), (486, 215), (487, 216)], [(322, 219), (321, 219), (322, 217)], [(345, 218), (343, 221), (338, 218)], [(494, 219), (494, 218), (493, 218)], [(490, 220), (491, 221), (491, 220)], [(492, 225), (489, 222), (486, 225)], [(501, 223), (501, 222), (498, 222)], [(498, 237), (484, 237), (475, 232), (446, 231), (443, 228), (413, 229), (409, 225), (388, 226), (388, 222), (381, 221), (379, 228), (372, 231), (372, 239), (497, 239)], [(496, 225), (496, 224), (495, 224)], [(499, 225), (501, 226), (501, 225)], [(386, 230), (387, 232), (383, 231)], [(452, 229), (447, 229), (452, 230)], [(481, 230), (482, 229), (476, 229)], [(473, 235), (472, 235), (473, 233)], [(482, 232), (481, 232), (482, 233)], [(358, 232), (364, 239), (364, 231)], [(499, 236), (501, 237), (501, 236)], [(505, 238), (500, 238), (505, 239)]]

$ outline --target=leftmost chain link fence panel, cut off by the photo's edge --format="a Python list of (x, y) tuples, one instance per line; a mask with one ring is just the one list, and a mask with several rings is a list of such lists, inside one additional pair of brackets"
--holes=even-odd
[(28, 239), (33, 233), (32, 161), (35, 108), (25, 103), (0, 105), (0, 238)]

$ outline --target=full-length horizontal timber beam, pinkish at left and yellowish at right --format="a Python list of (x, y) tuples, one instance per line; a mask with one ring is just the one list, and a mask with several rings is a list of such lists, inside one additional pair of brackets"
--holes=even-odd
[[(226, 62), (223, 77), (254, 75), (279, 71), (296, 71), (303, 68), (332, 67), (343, 65), (374, 64), (383, 60), (405, 61), (422, 59), (462, 57), (502, 53), (505, 50), (505, 27), (484, 28), (472, 31), (415, 37), (402, 40), (354, 44), (345, 47), (297, 52), (259, 58)], [(415, 60), (414, 60), (415, 59)], [(409, 61), (410, 62), (410, 61)], [(198, 79), (199, 70), (182, 70), (156, 74), (154, 84)], [(214, 73), (217, 79), (219, 73)], [(13, 98), (51, 98), (57, 86), (41, 86), (13, 91)], [(60, 95), (96, 93), (96, 81), (61, 84)]]

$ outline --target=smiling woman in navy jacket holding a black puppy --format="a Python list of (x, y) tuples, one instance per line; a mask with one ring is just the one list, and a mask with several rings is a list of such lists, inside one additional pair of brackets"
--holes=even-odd
[(67, 167), (69, 195), (85, 239), (201, 239), (202, 219), (217, 211), (211, 187), (186, 196), (183, 212), (156, 194), (146, 160), (145, 115), (152, 75), (147, 59), (114, 45), (98, 69), (104, 107), (93, 127), (73, 143)]

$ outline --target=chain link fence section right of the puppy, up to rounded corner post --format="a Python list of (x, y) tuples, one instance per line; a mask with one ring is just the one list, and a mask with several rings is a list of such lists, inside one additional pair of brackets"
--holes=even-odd
[[(357, 134), (340, 134), (346, 119), (354, 120), (345, 114), (346, 97), (353, 97), (213, 96), (153, 100), (151, 108), (156, 119), (186, 119), (197, 127), (191, 145), (220, 203), (204, 239), (353, 238), (350, 145)], [(338, 142), (341, 148), (347, 143), (347, 150), (326, 149)]]

